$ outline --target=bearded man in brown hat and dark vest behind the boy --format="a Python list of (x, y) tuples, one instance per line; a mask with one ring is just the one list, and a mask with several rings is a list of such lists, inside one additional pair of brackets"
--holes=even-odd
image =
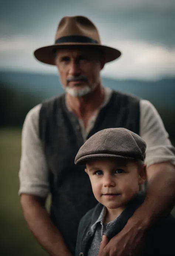
[[(175, 202), (175, 151), (160, 116), (147, 100), (103, 88), (100, 71), (121, 52), (101, 45), (86, 17), (62, 18), (55, 44), (34, 54), (57, 66), (65, 94), (35, 106), (24, 122), (19, 194), (31, 232), (49, 255), (74, 255), (80, 218), (97, 204), (75, 156), (99, 130), (124, 127), (147, 143), (147, 196), (122, 232), (102, 242), (99, 256), (135, 255), (152, 222)], [(45, 210), (49, 192), (50, 215)]]

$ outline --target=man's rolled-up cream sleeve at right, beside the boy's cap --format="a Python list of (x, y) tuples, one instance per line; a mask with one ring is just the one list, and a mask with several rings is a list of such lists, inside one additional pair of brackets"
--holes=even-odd
[(148, 100), (140, 101), (140, 136), (147, 143), (147, 166), (162, 162), (175, 165), (175, 148), (169, 140), (161, 117)]

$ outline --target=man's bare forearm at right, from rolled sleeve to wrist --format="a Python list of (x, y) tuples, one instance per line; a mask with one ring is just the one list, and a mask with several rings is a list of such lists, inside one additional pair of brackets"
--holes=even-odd
[(171, 212), (175, 205), (175, 166), (170, 163), (151, 165), (147, 170), (147, 176), (145, 201), (130, 220), (142, 223), (143, 228)]

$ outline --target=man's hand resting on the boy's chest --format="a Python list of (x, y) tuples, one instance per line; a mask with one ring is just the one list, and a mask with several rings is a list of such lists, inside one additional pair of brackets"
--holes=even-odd
[(127, 223), (109, 242), (106, 236), (100, 244), (98, 256), (139, 256), (144, 249), (144, 229)]

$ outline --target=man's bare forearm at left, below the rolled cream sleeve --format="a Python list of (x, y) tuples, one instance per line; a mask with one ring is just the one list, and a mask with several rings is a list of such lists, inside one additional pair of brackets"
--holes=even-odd
[(31, 232), (49, 255), (71, 256), (60, 232), (51, 222), (51, 219), (39, 198), (23, 194), (21, 195), (21, 205), (24, 218), (27, 221)]

